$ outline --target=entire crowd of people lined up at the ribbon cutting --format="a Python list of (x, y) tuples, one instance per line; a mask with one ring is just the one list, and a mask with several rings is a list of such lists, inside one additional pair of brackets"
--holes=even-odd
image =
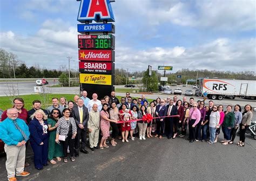
[[(6, 170), (9, 180), (15, 176), (27, 176), (24, 171), (25, 150), (28, 141), (34, 152), (35, 168), (42, 170), (44, 166), (63, 161), (74, 162), (79, 152), (88, 154), (86, 137), (89, 134), (89, 147), (96, 149), (109, 148), (107, 143), (115, 147), (119, 138), (122, 142), (134, 141), (134, 134), (139, 140), (151, 137), (167, 139), (185, 137), (186, 140), (207, 141), (210, 144), (218, 141), (220, 129), (223, 131), (223, 145), (233, 144), (235, 134), (240, 128), (238, 146), (245, 145), (245, 132), (252, 120), (252, 107), (246, 105), (244, 111), (235, 105), (228, 105), (224, 112), (223, 105), (214, 105), (213, 101), (194, 102), (157, 98), (151, 102), (142, 98), (133, 98), (127, 92), (120, 99), (114, 92), (110, 96), (98, 100), (96, 93), (92, 99), (87, 98), (87, 92), (82, 96), (74, 96), (73, 101), (64, 97), (52, 98), (52, 105), (41, 108), (41, 101), (32, 102), (33, 108), (27, 111), (22, 98), (14, 99), (14, 107), (5, 110), (0, 122), (0, 138), (5, 143), (7, 156)], [(152, 119), (145, 119), (151, 115)], [(120, 122), (122, 121), (122, 122)], [(110, 127), (112, 133), (110, 135)], [(179, 133), (179, 134), (178, 134)], [(109, 139), (110, 138), (110, 139)], [(208, 139), (209, 138), (209, 139)], [(81, 140), (81, 144), (80, 144)], [(98, 144), (99, 143), (99, 144)]]

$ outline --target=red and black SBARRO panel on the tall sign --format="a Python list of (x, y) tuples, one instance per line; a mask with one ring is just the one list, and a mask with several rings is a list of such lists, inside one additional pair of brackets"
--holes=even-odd
[(79, 61), (79, 72), (83, 73), (112, 73), (111, 62)]

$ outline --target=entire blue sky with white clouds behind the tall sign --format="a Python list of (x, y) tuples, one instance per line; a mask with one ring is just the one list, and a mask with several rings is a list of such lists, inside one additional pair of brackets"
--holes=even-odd
[[(78, 70), (76, 0), (1, 0), (0, 46), (30, 66)], [(116, 68), (256, 72), (256, 1), (116, 0)]]

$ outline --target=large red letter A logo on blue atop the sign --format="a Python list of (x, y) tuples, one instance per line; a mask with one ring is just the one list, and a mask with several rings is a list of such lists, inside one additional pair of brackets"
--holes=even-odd
[(81, 1), (77, 20), (81, 23), (92, 22), (114, 22), (114, 15), (110, 0), (78, 0)]

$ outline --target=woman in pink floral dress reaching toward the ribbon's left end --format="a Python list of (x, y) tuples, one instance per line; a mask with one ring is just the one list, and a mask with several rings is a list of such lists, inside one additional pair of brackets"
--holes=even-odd
[(109, 107), (106, 103), (104, 103), (102, 106), (102, 111), (100, 112), (100, 130), (102, 130), (102, 140), (99, 144), (100, 149), (103, 149), (103, 147), (109, 148), (109, 146), (106, 144), (106, 139), (110, 136), (110, 122), (117, 123), (117, 121), (109, 119)]

